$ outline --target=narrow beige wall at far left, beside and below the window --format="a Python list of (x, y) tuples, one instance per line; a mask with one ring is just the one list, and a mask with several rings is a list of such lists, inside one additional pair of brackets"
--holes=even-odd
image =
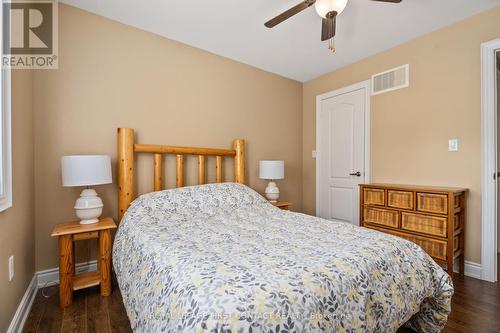
[[(13, 71), (13, 206), (0, 213), (0, 332), (7, 330), (35, 271), (32, 87), (31, 72)], [(9, 282), (11, 255), (15, 275)]]

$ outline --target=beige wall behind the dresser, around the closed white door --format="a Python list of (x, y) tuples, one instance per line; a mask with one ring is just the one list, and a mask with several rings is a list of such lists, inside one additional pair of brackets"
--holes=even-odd
[[(309, 81), (303, 87), (303, 209), (315, 210), (315, 98), (402, 64), (411, 86), (372, 98), (372, 181), (470, 189), (466, 259), (480, 261), (480, 44), (500, 37), (500, 7)], [(341, 46), (339, 46), (341, 48)], [(447, 141), (459, 138), (460, 151)]]

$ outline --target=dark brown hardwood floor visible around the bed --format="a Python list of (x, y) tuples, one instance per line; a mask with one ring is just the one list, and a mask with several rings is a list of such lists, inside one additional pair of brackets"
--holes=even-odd
[[(500, 283), (457, 277), (454, 284), (452, 312), (443, 332), (500, 332)], [(38, 291), (24, 332), (132, 332), (116, 285), (110, 297), (101, 297), (99, 287), (80, 290), (64, 310), (58, 305), (57, 286), (47, 288), (46, 293), (51, 296), (44, 298)], [(411, 331), (398, 331), (407, 332)]]

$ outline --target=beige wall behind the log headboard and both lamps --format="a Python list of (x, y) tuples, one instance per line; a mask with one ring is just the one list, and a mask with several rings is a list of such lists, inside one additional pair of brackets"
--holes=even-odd
[[(265, 188), (257, 179), (260, 159), (284, 159), (282, 197), (301, 209), (300, 83), (74, 7), (61, 5), (59, 20), (59, 70), (34, 77), (37, 270), (57, 266), (50, 232), (73, 218), (79, 193), (61, 186), (61, 156), (109, 154), (116, 161), (117, 127), (135, 128), (143, 143), (229, 148), (244, 138), (249, 185)], [(141, 192), (152, 190), (150, 163), (139, 163)], [(116, 181), (97, 190), (104, 213), (116, 217)]]

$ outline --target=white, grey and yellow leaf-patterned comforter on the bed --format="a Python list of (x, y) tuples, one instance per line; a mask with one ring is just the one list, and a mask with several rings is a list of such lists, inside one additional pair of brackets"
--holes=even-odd
[(417, 245), (233, 183), (139, 197), (113, 264), (135, 332), (439, 332), (453, 294)]

